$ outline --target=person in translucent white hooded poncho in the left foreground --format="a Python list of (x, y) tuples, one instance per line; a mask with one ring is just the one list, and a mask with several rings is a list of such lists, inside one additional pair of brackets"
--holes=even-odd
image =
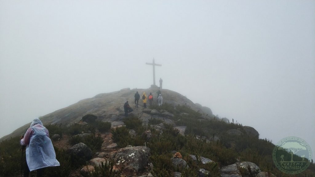
[(26, 146), (27, 164), (24, 177), (28, 177), (30, 171), (33, 170), (36, 170), (37, 177), (42, 177), (45, 167), (60, 166), (56, 159), (53, 143), (49, 138), (49, 132), (38, 118), (33, 120), (30, 128), (21, 137), (20, 144)]

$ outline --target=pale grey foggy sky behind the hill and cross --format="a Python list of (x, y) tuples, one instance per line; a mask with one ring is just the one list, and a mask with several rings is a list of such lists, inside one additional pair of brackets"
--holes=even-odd
[(164, 88), (315, 151), (313, 0), (0, 0), (0, 137), (96, 94), (149, 88), (153, 58)]

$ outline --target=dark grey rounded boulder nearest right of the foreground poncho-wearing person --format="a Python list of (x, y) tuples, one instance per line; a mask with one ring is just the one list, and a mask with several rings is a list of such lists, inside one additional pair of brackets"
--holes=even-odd
[(68, 149), (68, 153), (73, 156), (82, 157), (85, 160), (92, 158), (92, 150), (84, 143), (78, 143)]

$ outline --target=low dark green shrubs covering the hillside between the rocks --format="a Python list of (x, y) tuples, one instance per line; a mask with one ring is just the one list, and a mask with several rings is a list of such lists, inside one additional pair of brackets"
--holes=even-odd
[[(112, 140), (118, 147), (123, 148), (128, 145), (148, 146), (151, 149), (150, 161), (153, 164), (151, 173), (154, 176), (174, 176), (178, 171), (182, 177), (197, 176), (198, 170), (203, 168), (209, 171), (208, 176), (220, 176), (219, 168), (233, 164), (239, 159), (257, 164), (261, 171), (275, 174), (276, 176), (289, 177), (290, 175), (280, 172), (272, 161), (272, 150), (275, 145), (269, 140), (263, 140), (247, 136), (231, 136), (226, 134), (227, 130), (239, 129), (243, 133), (243, 126), (238, 123), (226, 123), (220, 119), (205, 119), (202, 114), (196, 112), (185, 105), (173, 106), (163, 104), (163, 106), (151, 106), (157, 110), (166, 110), (174, 117), (170, 118), (176, 126), (187, 126), (185, 135), (179, 134), (174, 124), (163, 123), (163, 129), (157, 130), (150, 125), (161, 123), (161, 120), (152, 117), (148, 125), (138, 116), (128, 116), (123, 119), (125, 126), (110, 129), (111, 124), (107, 122), (91, 122), (89, 124), (72, 124), (71, 126), (47, 125), (50, 135), (66, 133), (72, 135), (69, 143), (72, 145), (83, 142), (89, 146), (93, 152), (99, 151), (103, 140), (98, 136), (99, 132), (112, 132)], [(182, 114), (187, 113), (187, 114)], [(135, 134), (130, 134), (129, 130), (135, 130)], [(97, 131), (98, 130), (98, 131)], [(149, 131), (150, 130), (150, 131)], [(90, 133), (89, 135), (77, 135)], [(150, 137), (147, 136), (149, 132)], [(219, 140), (209, 141), (218, 137)], [(56, 157), (59, 167), (49, 167), (45, 170), (45, 176), (69, 176), (73, 171), (86, 165), (85, 161), (71, 157), (65, 150), (55, 147)], [(174, 151), (180, 152), (182, 158), (187, 162), (189, 168), (175, 168), (171, 158)], [(21, 166), (21, 146), (19, 137), (4, 140), (0, 143), (0, 177), (18, 176)], [(23, 152), (25, 157), (25, 152)], [(197, 159), (209, 158), (215, 163), (202, 164), (193, 160), (189, 155), (196, 155)], [(243, 175), (253, 175), (248, 169), (239, 169)], [(91, 177), (99, 176), (119, 176), (120, 172), (113, 170), (113, 163), (103, 164), (95, 167), (95, 172), (87, 174)], [(311, 163), (308, 169), (297, 177), (315, 177), (315, 165)]]

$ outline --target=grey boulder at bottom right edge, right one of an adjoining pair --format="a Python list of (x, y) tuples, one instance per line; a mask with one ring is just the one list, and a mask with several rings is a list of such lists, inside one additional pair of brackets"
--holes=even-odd
[(242, 173), (243, 177), (246, 176), (256, 176), (258, 173), (261, 172), (260, 168), (255, 164), (251, 162), (236, 162), (235, 163), (237, 168)]

